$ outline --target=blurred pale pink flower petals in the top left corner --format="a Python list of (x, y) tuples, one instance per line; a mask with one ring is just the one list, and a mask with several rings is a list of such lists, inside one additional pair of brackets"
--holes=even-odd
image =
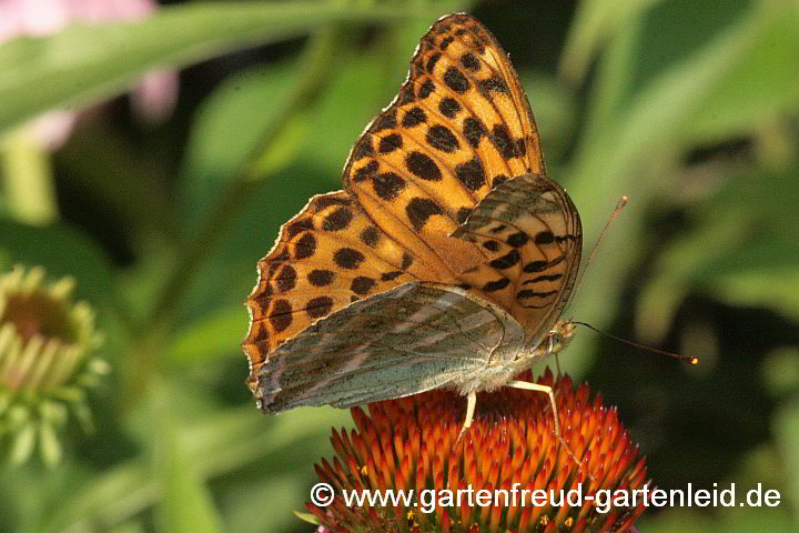
[[(153, 0), (0, 0), (0, 43), (16, 37), (55, 33), (72, 22), (98, 24), (148, 17)], [(142, 119), (156, 122), (172, 112), (178, 98), (178, 74), (161, 70), (145, 74), (131, 90), (131, 103)], [(75, 113), (51, 111), (33, 122), (33, 135), (43, 145), (58, 148), (69, 137)]]

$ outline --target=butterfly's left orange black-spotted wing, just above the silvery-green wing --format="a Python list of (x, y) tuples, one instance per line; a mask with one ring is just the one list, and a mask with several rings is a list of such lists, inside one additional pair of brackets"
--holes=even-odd
[(259, 262), (244, 350), (251, 386), (265, 356), (314, 321), (353, 301), (425, 274), (344, 191), (314, 197)]

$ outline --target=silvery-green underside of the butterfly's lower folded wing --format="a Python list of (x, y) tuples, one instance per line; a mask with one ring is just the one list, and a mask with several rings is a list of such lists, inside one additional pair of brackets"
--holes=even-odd
[(519, 325), (498, 306), (457, 288), (412, 282), (287, 340), (257, 371), (255, 395), (262, 409), (280, 412), (461, 388), (483, 379), (497, 346), (523, 342)]

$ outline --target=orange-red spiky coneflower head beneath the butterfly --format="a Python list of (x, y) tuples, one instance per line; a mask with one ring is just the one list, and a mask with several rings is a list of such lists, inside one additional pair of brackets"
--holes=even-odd
[[(519, 379), (529, 381), (532, 375)], [(548, 369), (538, 380), (549, 385), (553, 381)], [(434, 391), (373, 403), (368, 414), (353, 409), (357, 429), (348, 434), (333, 431), (336, 456), (316, 465), (335, 499), (328, 506), (306, 506), (320, 531), (330, 532), (629, 531), (645, 510), (641, 499), (628, 506), (585, 500), (573, 506), (559, 491), (567, 495), (581, 485), (586, 496), (598, 490), (640, 489), (648, 484), (646, 459), (638, 456), (616, 409), (606, 408), (599, 394), (590, 400), (588, 385), (575, 389), (565, 376), (554, 388), (569, 450), (553, 432), (547, 396), (529, 391), (505, 388), (478, 395), (474, 424), (459, 442), (466, 402), (455, 393)], [(519, 492), (514, 503), (515, 483)], [(387, 506), (347, 506), (343, 497), (343, 491), (390, 489), (414, 490), (414, 497)], [(458, 489), (459, 505), (437, 500), (444, 494), (439, 491)], [(499, 492), (497, 501), (481, 506), (479, 490), (505, 490), (508, 496)], [(520, 490), (544, 490), (554, 500), (547, 496), (536, 506), (534, 493), (523, 499)], [(434, 511), (422, 512), (433, 507), (432, 497)]]

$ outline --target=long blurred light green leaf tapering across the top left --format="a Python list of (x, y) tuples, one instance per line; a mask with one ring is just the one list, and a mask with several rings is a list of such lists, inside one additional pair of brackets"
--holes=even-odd
[(332, 22), (386, 22), (422, 10), (333, 2), (190, 2), (138, 22), (72, 26), (0, 46), (0, 131), (47, 109), (125, 90), (142, 73), (301, 36)]

